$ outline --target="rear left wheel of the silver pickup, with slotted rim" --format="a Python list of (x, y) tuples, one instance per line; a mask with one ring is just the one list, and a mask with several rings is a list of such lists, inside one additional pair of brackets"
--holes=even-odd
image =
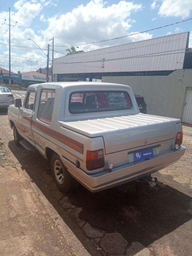
[(51, 158), (51, 173), (58, 189), (62, 192), (72, 192), (79, 185), (62, 163), (60, 156), (56, 153)]

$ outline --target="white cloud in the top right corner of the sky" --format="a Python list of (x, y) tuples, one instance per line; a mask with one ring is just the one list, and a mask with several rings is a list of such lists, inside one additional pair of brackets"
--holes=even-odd
[(164, 17), (186, 18), (192, 12), (192, 0), (162, 0), (159, 14)]

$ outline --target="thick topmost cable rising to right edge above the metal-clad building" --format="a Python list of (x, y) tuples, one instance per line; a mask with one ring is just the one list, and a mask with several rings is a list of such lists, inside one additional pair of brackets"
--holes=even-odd
[(157, 28), (151, 28), (151, 29), (144, 30), (144, 31), (141, 31), (141, 32), (132, 33), (132, 34), (129, 34), (129, 35), (126, 35), (126, 36), (120, 36), (120, 37), (106, 39), (106, 40), (100, 40), (100, 41), (95, 41), (95, 42), (90, 42), (90, 43), (82, 43), (82, 44), (77, 44), (77, 45), (55, 45), (55, 46), (57, 46), (57, 47), (68, 47), (68, 46), (79, 46), (79, 45), (90, 45), (90, 44), (95, 44), (95, 43), (103, 43), (103, 42), (108, 42), (108, 41), (112, 41), (112, 40), (117, 40), (117, 39), (125, 38), (125, 37), (128, 37), (128, 36), (139, 35), (141, 33), (146, 33), (146, 32), (150, 32), (150, 31), (153, 31), (153, 30), (160, 29), (160, 28), (165, 28), (165, 27), (168, 27), (168, 26), (173, 26), (173, 25), (185, 22), (185, 21), (190, 21), (190, 20), (192, 20), (192, 18), (185, 19), (183, 21), (178, 21), (178, 22), (171, 23), (171, 24), (167, 24), (167, 25), (160, 26), (160, 27), (157, 27)]

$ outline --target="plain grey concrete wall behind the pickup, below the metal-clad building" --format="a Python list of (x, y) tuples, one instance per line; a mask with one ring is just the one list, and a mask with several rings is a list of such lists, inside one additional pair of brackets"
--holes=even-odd
[(129, 85), (145, 97), (148, 114), (182, 118), (187, 87), (192, 87), (192, 69), (178, 69), (169, 76), (111, 76), (103, 82)]

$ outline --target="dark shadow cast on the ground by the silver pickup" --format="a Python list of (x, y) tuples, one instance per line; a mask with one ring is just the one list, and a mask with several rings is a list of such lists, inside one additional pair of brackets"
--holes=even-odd
[[(74, 222), (66, 218), (66, 212), (64, 214), (59, 204), (66, 195), (58, 192), (51, 175), (46, 174), (48, 161), (39, 153), (31, 154), (22, 147), (16, 147), (14, 141), (9, 142), (9, 149), (84, 247), (91, 255), (95, 255), (87, 247)], [(127, 240), (128, 247), (136, 241), (149, 247), (191, 219), (187, 213), (191, 198), (172, 187), (160, 184), (157, 190), (153, 190), (144, 183), (136, 183), (136, 192), (132, 192), (129, 186), (123, 185), (91, 193), (80, 185), (78, 190), (67, 197), (71, 204), (82, 207), (79, 213), (82, 221), (105, 232), (120, 233)]]

